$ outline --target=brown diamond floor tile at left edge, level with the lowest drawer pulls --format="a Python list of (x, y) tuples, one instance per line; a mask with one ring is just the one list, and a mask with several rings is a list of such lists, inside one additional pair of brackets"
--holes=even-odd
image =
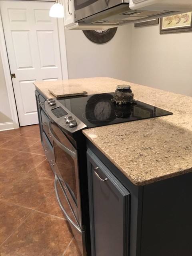
[(1, 167), (9, 172), (28, 173), (46, 159), (45, 156), (20, 152), (16, 156), (4, 162)]

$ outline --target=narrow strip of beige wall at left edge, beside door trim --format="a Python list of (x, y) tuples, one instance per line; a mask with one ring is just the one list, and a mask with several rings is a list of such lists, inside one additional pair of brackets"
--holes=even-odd
[(12, 115), (6, 89), (2, 58), (0, 54), (0, 124), (6, 122), (12, 122)]

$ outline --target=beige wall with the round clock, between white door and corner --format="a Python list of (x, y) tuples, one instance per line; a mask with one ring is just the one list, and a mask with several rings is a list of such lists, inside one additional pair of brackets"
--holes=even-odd
[(65, 35), (69, 78), (130, 78), (130, 25), (118, 28), (105, 44), (91, 42), (82, 31), (66, 30)]

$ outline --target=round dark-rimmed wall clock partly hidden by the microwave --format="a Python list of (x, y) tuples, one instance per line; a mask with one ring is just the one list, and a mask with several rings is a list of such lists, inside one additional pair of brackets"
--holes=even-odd
[(116, 31), (117, 27), (101, 30), (83, 30), (86, 37), (97, 44), (104, 44), (110, 41), (114, 37)]

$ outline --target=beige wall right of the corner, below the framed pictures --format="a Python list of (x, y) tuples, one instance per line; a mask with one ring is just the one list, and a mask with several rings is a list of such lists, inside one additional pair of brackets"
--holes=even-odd
[(131, 24), (130, 82), (192, 96), (192, 32), (161, 34)]

